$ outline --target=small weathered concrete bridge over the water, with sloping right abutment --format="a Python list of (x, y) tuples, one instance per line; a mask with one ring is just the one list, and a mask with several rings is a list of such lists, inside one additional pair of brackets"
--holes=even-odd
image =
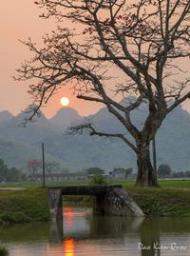
[(93, 212), (97, 214), (143, 216), (142, 209), (128, 196), (122, 186), (49, 187), (48, 193), (52, 220), (63, 218), (63, 195), (93, 196)]

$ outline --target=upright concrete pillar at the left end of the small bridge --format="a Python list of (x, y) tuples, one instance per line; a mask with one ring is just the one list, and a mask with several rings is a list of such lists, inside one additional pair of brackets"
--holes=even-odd
[(62, 189), (61, 188), (49, 188), (49, 207), (50, 217), (52, 221), (63, 219), (63, 207), (62, 207)]

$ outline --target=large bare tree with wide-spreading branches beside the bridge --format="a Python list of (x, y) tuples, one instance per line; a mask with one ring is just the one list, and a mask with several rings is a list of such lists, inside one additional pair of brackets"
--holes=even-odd
[[(56, 31), (44, 37), (33, 59), (18, 69), (20, 80), (35, 78), (30, 85), (38, 113), (56, 89), (67, 83), (79, 99), (102, 103), (125, 133), (109, 134), (87, 123), (73, 132), (118, 137), (137, 154), (137, 186), (157, 186), (149, 145), (168, 113), (190, 97), (189, 72), (182, 60), (190, 56), (189, 0), (38, 0), (44, 18), (59, 22)], [(127, 105), (118, 95), (136, 95)], [(148, 106), (143, 127), (131, 121), (131, 112)]]

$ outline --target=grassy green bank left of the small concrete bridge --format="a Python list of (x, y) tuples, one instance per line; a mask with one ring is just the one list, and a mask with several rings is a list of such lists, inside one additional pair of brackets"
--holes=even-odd
[(0, 224), (47, 220), (47, 189), (0, 191)]

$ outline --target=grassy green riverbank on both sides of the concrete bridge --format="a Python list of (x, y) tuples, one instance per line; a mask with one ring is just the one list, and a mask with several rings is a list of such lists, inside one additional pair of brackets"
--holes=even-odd
[[(160, 188), (136, 188), (134, 182), (122, 185), (146, 216), (190, 217), (190, 181), (162, 181)], [(91, 205), (89, 196), (65, 196), (63, 199), (64, 205)], [(0, 190), (0, 224), (47, 220), (47, 188)]]

